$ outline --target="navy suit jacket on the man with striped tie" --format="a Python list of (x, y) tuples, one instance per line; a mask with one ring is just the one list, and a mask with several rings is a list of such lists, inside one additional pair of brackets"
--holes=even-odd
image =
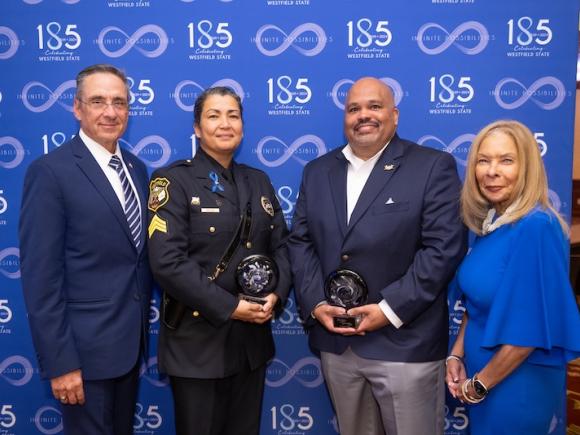
[(35, 160), (20, 215), (22, 286), (41, 374), (121, 376), (148, 325), (147, 171), (122, 151), (142, 208), (139, 250), (106, 175), (79, 136)]

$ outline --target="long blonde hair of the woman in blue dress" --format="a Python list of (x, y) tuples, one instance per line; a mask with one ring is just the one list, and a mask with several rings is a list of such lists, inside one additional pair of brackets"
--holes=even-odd
[(498, 132), (509, 136), (514, 141), (519, 160), (519, 173), (511, 198), (509, 198), (509, 204), (514, 204), (516, 199), (518, 202), (506, 223), (521, 219), (539, 205), (544, 210), (550, 210), (556, 216), (562, 226), (562, 231), (567, 234), (568, 225), (550, 204), (548, 198), (548, 181), (538, 143), (525, 125), (512, 120), (495, 121), (485, 126), (471, 144), (467, 157), (465, 183), (461, 191), (461, 216), (465, 225), (477, 235), (482, 234), (481, 224), (487, 216), (491, 204), (479, 190), (475, 178), (475, 166), (482, 142)]

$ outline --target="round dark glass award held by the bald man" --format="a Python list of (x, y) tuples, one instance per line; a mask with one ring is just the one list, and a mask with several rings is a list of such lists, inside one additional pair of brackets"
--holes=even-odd
[(324, 294), (330, 305), (345, 309), (344, 314), (334, 316), (335, 328), (358, 327), (362, 317), (347, 314), (346, 311), (367, 301), (368, 287), (362, 276), (349, 269), (335, 270), (326, 278)]

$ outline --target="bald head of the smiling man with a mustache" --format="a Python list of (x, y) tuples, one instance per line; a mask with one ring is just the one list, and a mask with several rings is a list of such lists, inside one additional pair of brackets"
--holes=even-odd
[(399, 110), (391, 88), (374, 77), (357, 80), (346, 97), (344, 134), (354, 154), (374, 156), (397, 129)]

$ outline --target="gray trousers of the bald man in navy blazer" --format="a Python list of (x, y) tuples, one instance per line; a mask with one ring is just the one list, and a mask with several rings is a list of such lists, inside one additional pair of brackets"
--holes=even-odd
[(350, 348), (321, 353), (341, 435), (442, 435), (445, 362), (370, 360)]

